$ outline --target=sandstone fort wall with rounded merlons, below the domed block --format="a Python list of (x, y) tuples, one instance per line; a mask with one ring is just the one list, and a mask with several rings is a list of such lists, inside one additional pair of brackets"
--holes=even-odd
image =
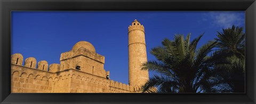
[[(60, 65), (47, 61), (36, 62), (19, 53), (11, 57), (12, 93), (134, 93), (140, 92), (138, 86), (119, 83), (106, 77), (85, 73), (81, 70), (60, 70)], [(37, 68), (36, 68), (37, 65)]]

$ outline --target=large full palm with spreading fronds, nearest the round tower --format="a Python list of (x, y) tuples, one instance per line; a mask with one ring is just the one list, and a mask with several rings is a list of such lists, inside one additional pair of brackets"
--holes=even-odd
[[(207, 57), (217, 42), (208, 42), (202, 47), (197, 47), (203, 35), (195, 38), (190, 43), (190, 34), (184, 39), (183, 35), (175, 35), (174, 40), (165, 38), (163, 46), (154, 47), (150, 53), (157, 60), (142, 64), (142, 70), (157, 72), (149, 78), (143, 86), (143, 92), (157, 87), (161, 93), (196, 93), (206, 92), (215, 84), (211, 80), (209, 67), (213, 57)], [(215, 57), (214, 57), (215, 58)]]

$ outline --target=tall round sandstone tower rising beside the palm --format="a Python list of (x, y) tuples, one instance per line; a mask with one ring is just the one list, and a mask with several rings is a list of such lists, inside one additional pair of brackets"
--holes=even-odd
[(129, 49), (129, 84), (142, 86), (148, 81), (148, 71), (141, 70), (143, 62), (147, 62), (145, 31), (139, 21), (134, 20), (128, 27)]

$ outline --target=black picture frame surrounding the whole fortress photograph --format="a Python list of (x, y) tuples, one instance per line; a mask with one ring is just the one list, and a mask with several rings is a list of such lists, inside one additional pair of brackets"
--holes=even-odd
[[(1, 103), (256, 103), (255, 0), (1, 0)], [(11, 93), (11, 11), (245, 11), (245, 93)]]

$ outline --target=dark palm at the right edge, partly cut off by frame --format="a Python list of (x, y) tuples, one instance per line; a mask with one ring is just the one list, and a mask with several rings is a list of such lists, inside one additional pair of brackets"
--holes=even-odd
[[(226, 62), (215, 63), (216, 75), (221, 77), (223, 82), (221, 89), (226, 91), (243, 93), (245, 92), (245, 34), (242, 27), (232, 26), (218, 32), (216, 45), (219, 53), (228, 54)], [(224, 53), (225, 52), (225, 53)], [(227, 84), (228, 86), (223, 87)], [(225, 92), (225, 91), (224, 91)]]

